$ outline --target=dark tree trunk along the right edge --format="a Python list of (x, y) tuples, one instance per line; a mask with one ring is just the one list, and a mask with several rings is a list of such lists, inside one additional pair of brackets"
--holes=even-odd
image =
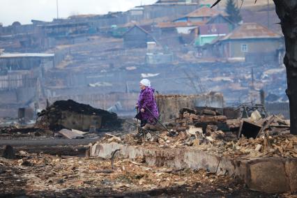
[(286, 44), (287, 96), (290, 102), (291, 134), (297, 135), (297, 1), (273, 0)]

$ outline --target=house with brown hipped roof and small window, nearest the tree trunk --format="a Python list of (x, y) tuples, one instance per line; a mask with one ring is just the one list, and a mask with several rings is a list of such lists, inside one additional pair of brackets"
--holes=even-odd
[(220, 38), (213, 46), (213, 50), (221, 57), (248, 58), (250, 61), (277, 59), (277, 52), (282, 47), (282, 36), (260, 24), (246, 23)]

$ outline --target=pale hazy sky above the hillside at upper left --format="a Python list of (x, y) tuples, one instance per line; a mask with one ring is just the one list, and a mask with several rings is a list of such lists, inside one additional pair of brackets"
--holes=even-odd
[[(105, 14), (125, 11), (157, 0), (59, 0), (59, 17), (74, 14)], [(0, 23), (15, 21), (29, 24), (31, 20), (52, 21), (56, 17), (56, 0), (0, 0)]]

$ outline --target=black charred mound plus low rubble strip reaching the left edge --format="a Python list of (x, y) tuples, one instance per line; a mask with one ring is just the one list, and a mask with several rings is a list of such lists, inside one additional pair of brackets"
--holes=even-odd
[(115, 113), (58, 100), (38, 113), (36, 123), (11, 122), (0, 126), (3, 140), (17, 139), (91, 139), (102, 132), (122, 131), (123, 120)]

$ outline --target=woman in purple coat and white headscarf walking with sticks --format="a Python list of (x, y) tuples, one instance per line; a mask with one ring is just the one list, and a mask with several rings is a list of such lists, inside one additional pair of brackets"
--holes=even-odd
[(155, 89), (151, 87), (151, 82), (149, 79), (142, 79), (139, 83), (141, 89), (139, 94), (139, 99), (136, 107), (140, 111), (137, 114), (137, 119), (141, 120), (141, 126), (144, 127), (146, 123), (150, 125), (155, 125), (158, 121), (159, 112), (158, 107), (153, 97)]

